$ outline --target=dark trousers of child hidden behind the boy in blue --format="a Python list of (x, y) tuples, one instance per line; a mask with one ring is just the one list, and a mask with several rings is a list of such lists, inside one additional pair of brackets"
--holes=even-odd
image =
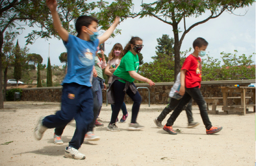
[[(88, 132), (93, 131), (93, 126), (94, 126), (95, 121), (97, 119), (97, 114), (98, 114), (98, 110), (99, 110), (98, 100), (97, 100), (96, 94), (93, 92), (93, 89), (92, 89), (92, 94), (93, 94), (93, 121), (90, 123)], [(67, 126), (67, 124), (65, 124), (64, 126), (60, 126), (60, 127), (55, 128), (54, 133), (56, 135), (59, 135), (59, 136), (62, 135), (66, 126)]]

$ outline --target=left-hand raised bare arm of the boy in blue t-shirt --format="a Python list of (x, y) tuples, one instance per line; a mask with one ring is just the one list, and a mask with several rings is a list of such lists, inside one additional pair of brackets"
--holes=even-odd
[(47, 0), (46, 4), (47, 4), (48, 8), (51, 10), (53, 25), (54, 25), (56, 31), (58, 32), (60, 38), (64, 41), (68, 41), (68, 31), (61, 26), (60, 17), (56, 10), (57, 1), (56, 0)]

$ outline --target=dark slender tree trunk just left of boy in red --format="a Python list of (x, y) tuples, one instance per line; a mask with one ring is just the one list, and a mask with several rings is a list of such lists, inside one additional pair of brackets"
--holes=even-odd
[(180, 45), (179, 45), (179, 32), (178, 24), (173, 23), (173, 36), (174, 36), (174, 81), (180, 72)]

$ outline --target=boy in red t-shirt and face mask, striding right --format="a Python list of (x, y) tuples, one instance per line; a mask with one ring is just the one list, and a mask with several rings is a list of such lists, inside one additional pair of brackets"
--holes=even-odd
[(191, 98), (197, 103), (202, 120), (204, 122), (206, 133), (213, 134), (218, 133), (222, 127), (214, 127), (207, 113), (207, 104), (200, 91), (201, 80), (202, 80), (202, 63), (201, 58), (198, 56), (205, 56), (205, 49), (207, 48), (208, 42), (204, 38), (196, 38), (193, 42), (194, 52), (190, 54), (183, 63), (180, 71), (180, 91), (179, 94), (182, 97), (179, 105), (175, 108), (172, 115), (168, 119), (168, 122), (164, 125), (163, 130), (176, 135), (172, 125), (179, 116), (184, 105), (186, 105)]

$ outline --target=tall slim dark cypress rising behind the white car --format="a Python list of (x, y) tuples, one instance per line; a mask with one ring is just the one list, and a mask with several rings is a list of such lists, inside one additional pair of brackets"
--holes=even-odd
[(20, 64), (20, 46), (19, 41), (17, 40), (15, 47), (15, 59), (14, 59), (14, 72), (13, 77), (18, 82), (21, 79), (21, 64)]

